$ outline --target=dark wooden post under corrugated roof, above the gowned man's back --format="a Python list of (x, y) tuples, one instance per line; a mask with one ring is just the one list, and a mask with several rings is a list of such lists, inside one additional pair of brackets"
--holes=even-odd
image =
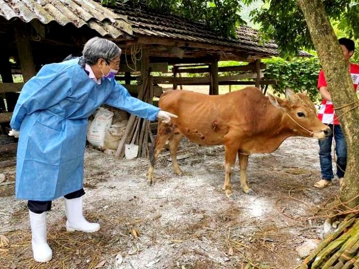
[(26, 28), (26, 24), (22, 21), (15, 22), (14, 31), (21, 71), (23, 73), (24, 82), (26, 82), (36, 74), (31, 51), (30, 33)]

